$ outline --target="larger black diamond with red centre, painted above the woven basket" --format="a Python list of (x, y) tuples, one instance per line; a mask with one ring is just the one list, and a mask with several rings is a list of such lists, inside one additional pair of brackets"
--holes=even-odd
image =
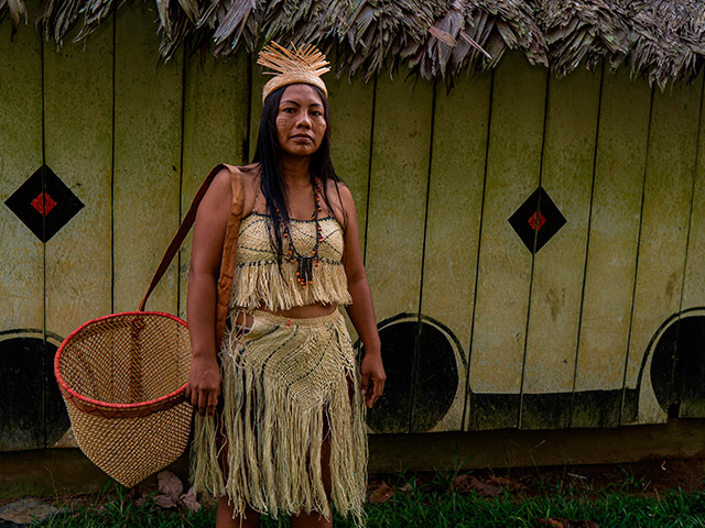
[(84, 207), (47, 165), (37, 168), (4, 205), (42, 242), (48, 242)]

